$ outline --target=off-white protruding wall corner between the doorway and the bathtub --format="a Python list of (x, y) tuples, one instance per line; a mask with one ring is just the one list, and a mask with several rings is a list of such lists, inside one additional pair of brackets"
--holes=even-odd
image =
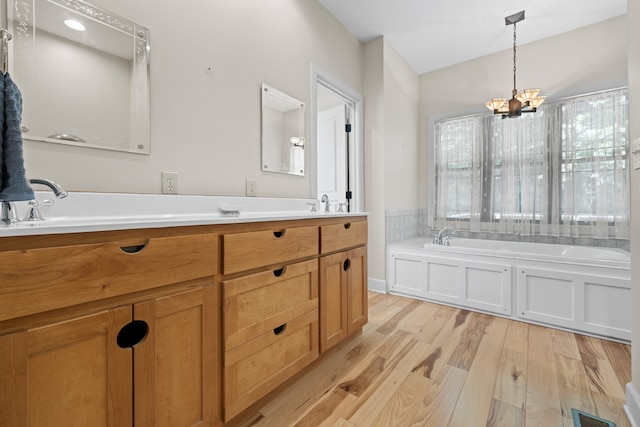
[(379, 37), (364, 47), (364, 87), (369, 279), (383, 284), (385, 210), (418, 207), (418, 75)]

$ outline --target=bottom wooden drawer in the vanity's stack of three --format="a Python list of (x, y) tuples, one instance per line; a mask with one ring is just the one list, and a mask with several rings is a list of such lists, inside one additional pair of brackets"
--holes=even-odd
[(318, 358), (318, 310), (225, 352), (224, 420), (229, 421)]

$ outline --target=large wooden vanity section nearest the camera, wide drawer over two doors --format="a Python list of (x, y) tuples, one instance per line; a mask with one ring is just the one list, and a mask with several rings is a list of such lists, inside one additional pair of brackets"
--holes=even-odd
[(217, 234), (74, 238), (0, 250), (0, 424), (215, 425)]

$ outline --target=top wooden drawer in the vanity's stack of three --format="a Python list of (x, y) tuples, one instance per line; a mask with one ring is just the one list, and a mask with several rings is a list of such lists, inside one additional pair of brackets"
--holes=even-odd
[(223, 236), (223, 274), (318, 254), (318, 227), (284, 228)]

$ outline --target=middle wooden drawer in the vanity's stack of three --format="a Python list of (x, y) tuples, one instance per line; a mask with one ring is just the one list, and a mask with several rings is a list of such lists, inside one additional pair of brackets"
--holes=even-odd
[(224, 343), (229, 350), (318, 308), (318, 261), (222, 283)]

